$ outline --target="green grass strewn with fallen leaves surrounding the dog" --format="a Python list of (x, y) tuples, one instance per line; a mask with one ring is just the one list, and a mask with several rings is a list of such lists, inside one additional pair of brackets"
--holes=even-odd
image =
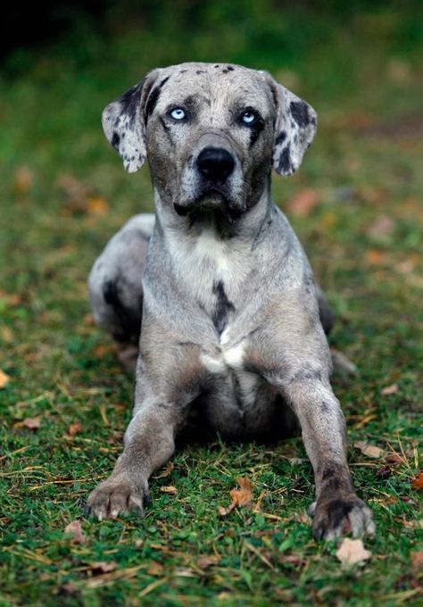
[[(205, 4), (216, 27), (234, 17)], [(177, 12), (176, 24), (163, 17), (162, 33), (141, 30), (142, 44), (136, 22), (5, 64), (13, 74), (3, 71), (0, 93), (0, 369), (10, 377), (0, 390), (1, 605), (423, 600), (411, 561), (423, 525), (411, 486), (423, 420), (421, 20), (380, 8), (343, 28), (330, 15), (273, 16), (251, 9), (237, 29), (222, 27), (217, 54), (209, 29), (171, 36)], [(173, 470), (153, 479), (144, 520), (83, 518), (88, 491), (120, 452), (132, 398), (111, 341), (89, 316), (87, 272), (124, 220), (152, 210), (147, 170), (123, 172), (99, 115), (155, 63), (195, 58), (271, 69), (319, 112), (302, 169), (275, 179), (274, 195), (336, 309), (331, 344), (360, 369), (334, 379), (350, 444), (385, 451), (375, 460), (350, 448), (355, 485), (377, 520), (361, 567), (344, 570), (336, 543), (311, 538), (311, 466), (299, 439), (181, 446)], [(307, 190), (314, 205), (302, 215), (295, 196)], [(40, 427), (27, 428), (29, 418)], [(221, 518), (244, 476), (261, 511)], [(77, 519), (80, 544), (64, 533)]]

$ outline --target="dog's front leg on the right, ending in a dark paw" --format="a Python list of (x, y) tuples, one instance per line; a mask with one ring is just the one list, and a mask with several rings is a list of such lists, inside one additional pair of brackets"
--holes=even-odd
[(341, 407), (320, 371), (310, 377), (310, 367), (282, 382), (281, 392), (291, 404), (303, 433), (316, 483), (316, 502), (311, 506), (313, 535), (333, 539), (375, 530), (372, 514), (355, 494), (346, 458), (345, 422)]

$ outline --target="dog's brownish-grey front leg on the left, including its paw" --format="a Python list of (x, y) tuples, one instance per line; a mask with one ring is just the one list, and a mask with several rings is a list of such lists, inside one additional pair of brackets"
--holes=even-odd
[(178, 354), (175, 345), (149, 354), (148, 363), (138, 361), (134, 415), (124, 451), (112, 475), (87, 500), (87, 511), (99, 520), (131, 510), (143, 514), (150, 500), (148, 479), (174, 452), (178, 427), (200, 389), (195, 348), (185, 358)]

